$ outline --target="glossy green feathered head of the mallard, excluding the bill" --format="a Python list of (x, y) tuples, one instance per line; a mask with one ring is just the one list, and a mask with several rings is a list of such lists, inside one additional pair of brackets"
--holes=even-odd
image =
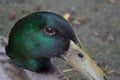
[(49, 69), (49, 58), (68, 50), (70, 40), (78, 42), (64, 18), (51, 12), (36, 12), (16, 22), (6, 52), (17, 65), (39, 72), (44, 70), (42, 67)]

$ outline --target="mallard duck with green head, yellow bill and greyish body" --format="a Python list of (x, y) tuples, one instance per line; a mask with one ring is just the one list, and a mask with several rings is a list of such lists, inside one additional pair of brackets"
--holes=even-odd
[(53, 57), (68, 62), (88, 80), (107, 80), (71, 25), (52, 12), (32, 13), (17, 21), (5, 50), (9, 57), (4, 54), (7, 61), (3, 60), (0, 69), (6, 75), (0, 75), (0, 80), (67, 80), (52, 64)]

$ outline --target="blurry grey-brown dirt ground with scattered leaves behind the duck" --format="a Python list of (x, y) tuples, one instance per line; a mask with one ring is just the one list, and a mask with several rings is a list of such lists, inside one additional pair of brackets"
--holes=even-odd
[[(89, 55), (110, 80), (120, 80), (120, 0), (0, 0), (0, 35), (8, 36), (18, 19), (36, 11), (70, 13), (70, 23)], [(69, 67), (61, 60), (53, 62), (62, 70)], [(84, 80), (73, 74), (65, 73), (70, 80)]]

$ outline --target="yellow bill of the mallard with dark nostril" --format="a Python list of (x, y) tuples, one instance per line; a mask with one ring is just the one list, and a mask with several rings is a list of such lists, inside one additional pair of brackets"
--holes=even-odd
[(107, 80), (104, 72), (89, 57), (83, 48), (70, 41), (69, 50), (62, 58), (80, 72), (87, 80)]

